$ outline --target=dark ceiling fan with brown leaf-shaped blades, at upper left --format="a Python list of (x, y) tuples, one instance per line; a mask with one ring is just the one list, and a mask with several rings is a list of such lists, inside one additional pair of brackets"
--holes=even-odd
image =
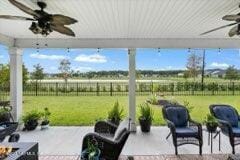
[(16, 0), (8, 0), (15, 7), (19, 8), (21, 11), (33, 16), (33, 18), (22, 17), (22, 16), (10, 16), (10, 15), (0, 15), (1, 19), (10, 20), (24, 20), (32, 21), (32, 25), (29, 29), (34, 34), (41, 34), (43, 36), (49, 35), (51, 32), (56, 31), (64, 35), (75, 37), (75, 33), (65, 25), (71, 25), (77, 23), (78, 21), (74, 18), (61, 15), (61, 14), (49, 14), (44, 11), (47, 4), (44, 2), (37, 2), (40, 10), (33, 10)]

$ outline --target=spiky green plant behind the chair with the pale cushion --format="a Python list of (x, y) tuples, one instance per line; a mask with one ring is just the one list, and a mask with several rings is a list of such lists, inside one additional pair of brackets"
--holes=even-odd
[(119, 125), (123, 117), (123, 109), (120, 109), (118, 101), (114, 103), (113, 108), (108, 112), (108, 121)]

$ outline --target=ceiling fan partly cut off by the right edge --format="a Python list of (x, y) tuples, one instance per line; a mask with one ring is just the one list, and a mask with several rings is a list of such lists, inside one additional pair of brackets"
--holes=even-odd
[(218, 28), (214, 28), (214, 29), (209, 30), (207, 32), (204, 32), (204, 33), (202, 33), (200, 35), (205, 35), (205, 34), (208, 34), (208, 33), (211, 33), (211, 32), (214, 32), (214, 31), (217, 31), (217, 30), (220, 30), (220, 29), (223, 29), (223, 28), (227, 28), (227, 27), (230, 27), (230, 26), (234, 26), (234, 25), (235, 26), (233, 28), (231, 28), (230, 31), (228, 32), (229, 37), (233, 37), (235, 35), (240, 35), (240, 13), (223, 16), (222, 20), (234, 21), (234, 23), (230, 23), (230, 24), (218, 27)]

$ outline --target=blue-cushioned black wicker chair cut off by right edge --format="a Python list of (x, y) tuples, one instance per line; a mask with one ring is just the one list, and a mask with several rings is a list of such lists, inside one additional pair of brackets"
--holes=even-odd
[(218, 125), (223, 134), (229, 137), (232, 146), (232, 154), (235, 154), (235, 146), (240, 144), (239, 114), (230, 105), (214, 104), (209, 106), (211, 114), (217, 118)]

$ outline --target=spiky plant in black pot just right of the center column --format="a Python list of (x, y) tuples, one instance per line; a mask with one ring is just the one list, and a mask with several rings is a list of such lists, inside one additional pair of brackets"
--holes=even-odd
[(139, 123), (142, 132), (150, 132), (153, 120), (153, 110), (148, 103), (143, 103), (140, 105), (140, 116)]

